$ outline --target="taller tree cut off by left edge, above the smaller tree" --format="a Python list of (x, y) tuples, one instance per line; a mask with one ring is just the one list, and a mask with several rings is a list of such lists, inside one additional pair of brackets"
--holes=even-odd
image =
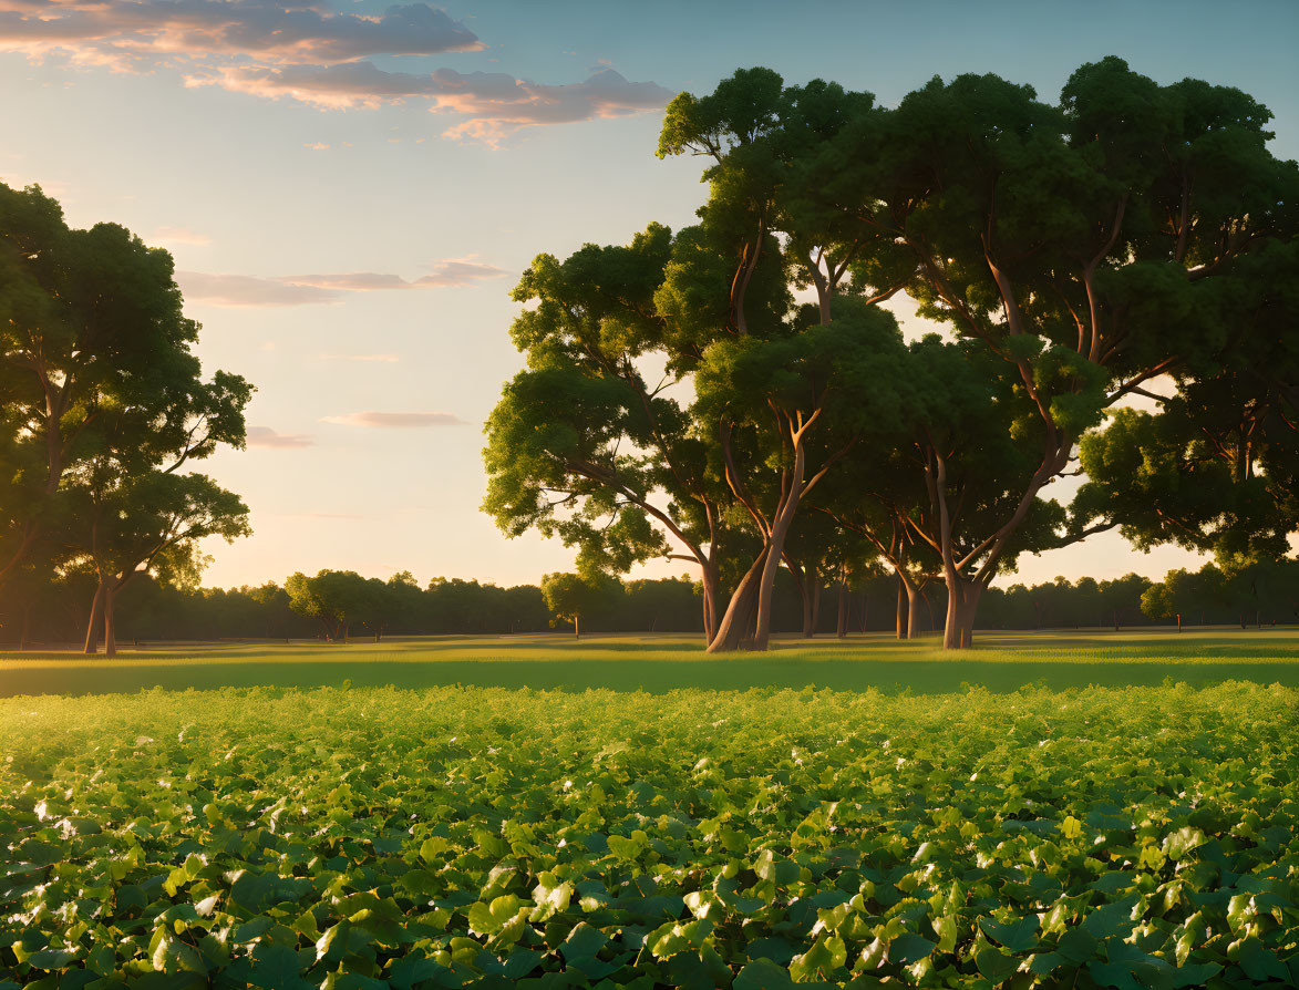
[[(69, 472), (104, 453), (87, 434), (132, 418), (164, 434), (190, 430), (201, 457), (242, 443), (242, 378), (199, 381), (171, 256), (126, 229), (73, 230), (39, 187), (0, 184), (0, 581), (58, 514)], [(183, 411), (183, 416), (175, 416)]]

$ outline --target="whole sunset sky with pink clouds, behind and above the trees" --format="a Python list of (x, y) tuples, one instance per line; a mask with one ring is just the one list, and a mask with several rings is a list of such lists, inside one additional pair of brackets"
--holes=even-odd
[[(248, 448), (203, 466), (253, 535), (205, 547), (207, 583), (525, 583), (573, 553), (478, 509), (482, 422), (522, 366), (509, 290), (538, 253), (692, 221), (699, 161), (655, 156), (674, 94), (764, 65), (889, 105), (965, 71), (1055, 99), (1118, 55), (1250, 92), (1294, 159), (1296, 44), (1293, 0), (0, 0), (0, 181), (170, 249), (204, 368), (257, 387)], [(1005, 581), (1192, 560), (1104, 534)]]

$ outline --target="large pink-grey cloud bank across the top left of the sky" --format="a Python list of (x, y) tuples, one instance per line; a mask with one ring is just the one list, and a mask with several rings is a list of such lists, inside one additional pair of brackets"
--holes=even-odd
[(491, 146), (522, 127), (660, 109), (673, 95), (605, 66), (585, 82), (551, 84), (446, 68), (387, 71), (368, 61), (485, 47), (464, 22), (423, 3), (364, 16), (269, 0), (0, 0), (0, 52), (117, 71), (178, 69), (190, 87), (322, 108), (425, 100), (430, 110), (464, 117), (443, 136)]

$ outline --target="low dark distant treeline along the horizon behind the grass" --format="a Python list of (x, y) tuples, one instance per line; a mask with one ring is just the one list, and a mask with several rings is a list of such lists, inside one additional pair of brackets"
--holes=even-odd
[[(65, 576), (9, 595), (0, 607), (0, 642), (40, 648), (81, 643), (95, 579)], [(804, 594), (805, 591), (805, 594)], [(921, 589), (908, 611), (894, 576), (840, 586), (799, 586), (783, 570), (776, 587), (774, 628), (782, 633), (837, 634), (942, 629), (943, 586)], [(688, 578), (611, 581), (583, 631), (703, 633), (703, 598)], [(548, 609), (539, 586), (498, 587), (409, 573), (387, 581), (353, 572), (294, 574), (283, 585), (183, 589), (142, 577), (122, 592), (120, 635), (126, 642), (473, 635), (572, 629)], [(1299, 621), (1299, 563), (1282, 561), (1231, 577), (1212, 564), (1173, 570), (1163, 582), (1138, 574), (1113, 581), (1056, 578), (1042, 585), (992, 587), (979, 613), (983, 629), (1129, 628), (1160, 624), (1270, 625)], [(908, 630), (908, 624), (911, 629)]]

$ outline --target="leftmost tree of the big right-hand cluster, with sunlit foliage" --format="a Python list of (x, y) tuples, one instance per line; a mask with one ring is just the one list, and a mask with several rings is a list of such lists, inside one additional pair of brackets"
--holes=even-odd
[[(698, 564), (711, 638), (726, 492), (709, 465), (716, 442), (668, 394), (699, 353), (656, 301), (672, 252), (672, 231), (651, 225), (625, 247), (539, 255), (523, 273), (514, 299), (536, 305), (511, 333), (529, 366), (487, 421), (483, 511), (508, 535), (535, 527), (579, 547), (585, 572)], [(647, 361), (666, 369), (657, 385)]]

